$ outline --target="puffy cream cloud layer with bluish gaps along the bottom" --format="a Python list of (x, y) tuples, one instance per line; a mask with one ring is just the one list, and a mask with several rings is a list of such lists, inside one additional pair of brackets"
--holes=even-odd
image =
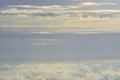
[(8, 70), (0, 69), (1, 80), (116, 80), (120, 78), (120, 62), (86, 61), (79, 63), (34, 63), (10, 66)]

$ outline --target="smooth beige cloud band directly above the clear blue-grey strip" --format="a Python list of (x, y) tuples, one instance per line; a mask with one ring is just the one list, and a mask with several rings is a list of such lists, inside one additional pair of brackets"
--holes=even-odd
[[(1, 17), (0, 27), (3, 32), (18, 33), (119, 33), (120, 19), (67, 18), (61, 17)], [(114, 27), (113, 27), (114, 26)]]

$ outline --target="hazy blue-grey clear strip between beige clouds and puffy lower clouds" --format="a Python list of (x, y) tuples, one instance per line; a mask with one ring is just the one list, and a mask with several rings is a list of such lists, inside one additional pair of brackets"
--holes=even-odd
[(120, 33), (18, 34), (0, 32), (0, 61), (119, 59)]

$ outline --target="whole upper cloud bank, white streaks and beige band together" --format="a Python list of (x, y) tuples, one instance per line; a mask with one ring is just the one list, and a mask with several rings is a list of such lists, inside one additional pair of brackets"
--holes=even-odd
[(37, 28), (31, 33), (45, 34), (118, 33), (117, 6), (114, 2), (79, 0), (69, 5), (4, 5), (0, 8), (0, 28)]

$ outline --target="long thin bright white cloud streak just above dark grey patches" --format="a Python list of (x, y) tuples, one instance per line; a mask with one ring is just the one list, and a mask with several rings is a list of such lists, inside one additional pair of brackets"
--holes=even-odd
[[(69, 6), (71, 8), (78, 8), (79, 6)], [(91, 13), (120, 13), (120, 10), (62, 10), (62, 11), (56, 11), (56, 10), (41, 10), (41, 9), (23, 9), (23, 10), (19, 10), (17, 8), (10, 8), (7, 10), (2, 10), (0, 11), (0, 13), (4, 13), (4, 14), (16, 14), (16, 15), (22, 15), (22, 14), (37, 14), (37, 13), (54, 13), (54, 14), (59, 14), (59, 13), (85, 13), (85, 12), (91, 12)], [(64, 14), (63, 14), (64, 15)]]

